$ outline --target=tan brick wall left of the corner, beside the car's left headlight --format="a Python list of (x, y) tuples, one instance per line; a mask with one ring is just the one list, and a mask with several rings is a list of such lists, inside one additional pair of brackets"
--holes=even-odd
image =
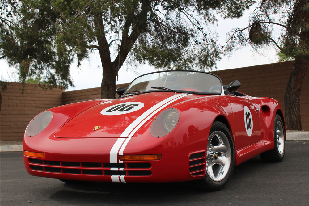
[[(36, 88), (35, 88), (36, 87)], [(0, 111), (1, 140), (23, 140), (28, 123), (41, 111), (62, 105), (62, 90), (44, 90), (36, 84), (9, 82), (7, 90), (1, 90)]]

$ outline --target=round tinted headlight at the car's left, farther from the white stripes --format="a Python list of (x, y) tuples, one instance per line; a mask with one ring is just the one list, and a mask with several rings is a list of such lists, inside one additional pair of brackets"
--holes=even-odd
[(43, 111), (31, 120), (26, 128), (26, 134), (29, 137), (35, 136), (47, 127), (53, 118), (53, 112)]

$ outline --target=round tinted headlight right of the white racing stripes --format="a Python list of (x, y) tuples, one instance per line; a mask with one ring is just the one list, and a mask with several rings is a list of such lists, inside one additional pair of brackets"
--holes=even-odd
[(179, 111), (170, 108), (161, 112), (151, 124), (150, 133), (154, 137), (163, 137), (170, 133), (179, 121)]

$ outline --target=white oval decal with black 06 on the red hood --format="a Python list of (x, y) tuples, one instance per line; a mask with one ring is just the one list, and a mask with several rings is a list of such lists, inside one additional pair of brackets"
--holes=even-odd
[(115, 104), (110, 107), (105, 108), (101, 111), (102, 115), (122, 115), (133, 111), (137, 111), (144, 107), (141, 102), (125, 102), (120, 104)]

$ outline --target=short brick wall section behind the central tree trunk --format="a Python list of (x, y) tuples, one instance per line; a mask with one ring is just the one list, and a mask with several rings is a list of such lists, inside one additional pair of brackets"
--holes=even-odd
[[(129, 83), (126, 84), (117, 84), (116, 89), (118, 87), (128, 87)], [(75, 103), (75, 102), (83, 102), (94, 99), (101, 99), (101, 87), (91, 88), (91, 89), (83, 89), (83, 90), (74, 90), (74, 91), (66, 91), (63, 92), (63, 105)], [(119, 95), (116, 93), (116, 98)]]

